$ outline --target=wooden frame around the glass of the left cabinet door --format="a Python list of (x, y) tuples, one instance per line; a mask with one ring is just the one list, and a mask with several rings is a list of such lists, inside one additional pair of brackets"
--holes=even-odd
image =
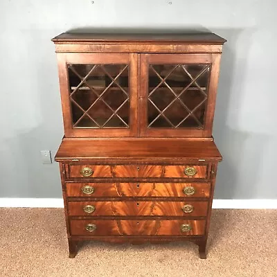
[[(62, 116), (65, 137), (128, 137), (138, 136), (138, 54), (134, 53), (57, 53)], [(69, 100), (67, 64), (129, 64), (129, 128), (73, 128)]]

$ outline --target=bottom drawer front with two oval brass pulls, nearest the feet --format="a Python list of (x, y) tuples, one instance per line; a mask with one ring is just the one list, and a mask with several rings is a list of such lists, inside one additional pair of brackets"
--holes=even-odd
[(71, 235), (204, 235), (205, 220), (71, 220)]

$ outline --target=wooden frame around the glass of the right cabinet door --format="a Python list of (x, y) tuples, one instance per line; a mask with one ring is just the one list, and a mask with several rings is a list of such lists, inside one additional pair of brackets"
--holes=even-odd
[[(141, 137), (211, 137), (213, 116), (215, 112), (215, 98), (217, 93), (217, 80), (220, 70), (220, 53), (184, 53), (184, 54), (141, 54), (140, 80), (139, 80), (139, 136)], [(148, 128), (148, 71), (149, 64), (211, 64), (211, 74), (208, 82), (208, 99), (203, 129), (172, 129)]]

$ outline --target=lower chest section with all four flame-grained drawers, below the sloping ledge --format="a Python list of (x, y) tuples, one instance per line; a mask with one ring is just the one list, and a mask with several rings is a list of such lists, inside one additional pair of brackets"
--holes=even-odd
[(206, 240), (213, 164), (60, 166), (69, 242)]

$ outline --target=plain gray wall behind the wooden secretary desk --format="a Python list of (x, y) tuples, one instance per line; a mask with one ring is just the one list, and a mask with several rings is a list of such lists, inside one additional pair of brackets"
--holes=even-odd
[[(170, 3), (171, 2), (171, 3)], [(66, 30), (211, 30), (224, 46), (214, 137), (224, 161), (215, 198), (277, 198), (276, 0), (0, 2), (0, 197), (61, 197), (63, 135), (55, 47)]]

